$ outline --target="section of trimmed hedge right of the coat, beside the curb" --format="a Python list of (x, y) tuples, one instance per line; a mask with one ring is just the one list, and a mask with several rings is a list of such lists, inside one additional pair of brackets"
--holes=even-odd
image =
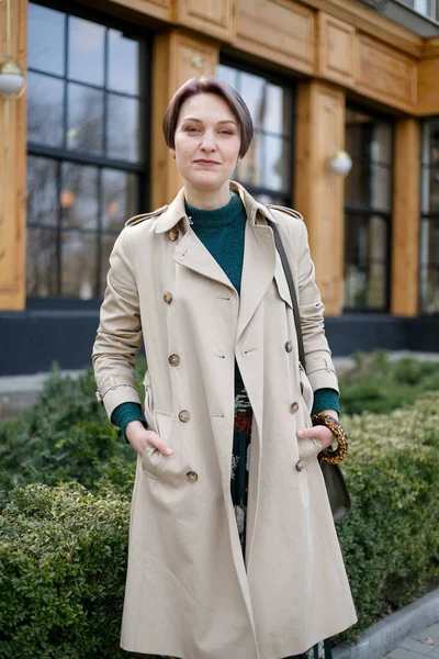
[(359, 623), (408, 603), (439, 579), (439, 393), (389, 416), (346, 420), (351, 514), (338, 525)]

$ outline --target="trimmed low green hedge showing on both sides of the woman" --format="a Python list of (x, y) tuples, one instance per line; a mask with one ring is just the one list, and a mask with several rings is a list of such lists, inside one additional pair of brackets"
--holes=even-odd
[[(346, 420), (350, 457), (345, 473), (353, 509), (338, 532), (359, 624), (342, 638), (352, 638), (439, 578), (438, 410), (439, 393), (432, 393), (389, 416)], [(97, 442), (93, 435), (88, 440), (91, 447)], [(78, 484), (9, 492), (0, 517), (1, 659), (122, 656), (125, 492), (132, 484), (123, 479), (132, 476), (132, 454), (127, 465), (119, 457), (116, 467), (113, 455), (106, 472), (95, 459), (94, 493)], [(71, 477), (77, 469), (67, 471)]]

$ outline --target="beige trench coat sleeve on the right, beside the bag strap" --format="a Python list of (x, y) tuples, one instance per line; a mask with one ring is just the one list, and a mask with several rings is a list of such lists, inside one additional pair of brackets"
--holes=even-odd
[(305, 349), (306, 375), (314, 391), (338, 389), (336, 370), (325, 335), (324, 311), (320, 293), (315, 281), (308, 236), (304, 222), (297, 249), (297, 290), (301, 325)]

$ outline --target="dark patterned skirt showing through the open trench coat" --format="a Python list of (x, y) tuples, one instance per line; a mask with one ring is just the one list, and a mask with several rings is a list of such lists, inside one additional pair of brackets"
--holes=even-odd
[[(232, 456), (230, 492), (235, 506), (236, 524), (243, 552), (246, 546), (246, 520), (248, 472), (250, 460), (252, 410), (247, 392), (241, 384), (235, 394), (235, 426)], [(142, 655), (145, 657), (145, 655)], [(150, 659), (177, 659), (176, 657), (148, 655)], [(331, 659), (329, 640), (324, 640), (302, 655), (285, 657), (284, 659)]]

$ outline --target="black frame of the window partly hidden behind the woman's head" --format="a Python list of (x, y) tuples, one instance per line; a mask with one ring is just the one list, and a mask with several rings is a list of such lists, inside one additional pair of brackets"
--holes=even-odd
[[(250, 74), (252, 76), (257, 76), (258, 78), (262, 78), (264, 80), (267, 80), (268, 82), (271, 82), (273, 85), (278, 85), (279, 87), (282, 87), (285, 92), (289, 94), (288, 98), (288, 103), (291, 108), (291, 115), (290, 115), (290, 136), (286, 136), (284, 133), (282, 133), (282, 135), (280, 135), (279, 133), (273, 133), (271, 131), (266, 131), (262, 130), (260, 131), (260, 134), (262, 135), (268, 135), (268, 136), (274, 136), (274, 137), (282, 137), (282, 138), (288, 138), (288, 141), (291, 144), (291, 149), (290, 149), (290, 158), (289, 158), (289, 163), (288, 163), (288, 169), (289, 169), (289, 174), (290, 174), (290, 193), (289, 194), (283, 194), (282, 192), (272, 190), (270, 188), (263, 188), (261, 186), (252, 186), (251, 183), (247, 183), (246, 181), (240, 181), (238, 177), (236, 177), (236, 181), (240, 185), (243, 185), (245, 187), (245, 189), (252, 196), (252, 197), (258, 197), (259, 194), (263, 194), (263, 196), (269, 196), (269, 197), (275, 197), (275, 198), (282, 198), (285, 201), (285, 204), (288, 208), (293, 208), (293, 200), (294, 200), (294, 181), (295, 181), (295, 147), (296, 147), (296, 135), (295, 135), (295, 130), (296, 130), (296, 80), (293, 77), (289, 77), (289, 76), (282, 76), (278, 72), (273, 72), (270, 69), (267, 68), (262, 68), (262, 67), (258, 67), (256, 65), (251, 65), (247, 62), (243, 62), (239, 58), (229, 55), (227, 53), (221, 53), (219, 54), (219, 62), (218, 64), (221, 66), (228, 66), (230, 68), (236, 69), (238, 72), (245, 72), (245, 74)], [(240, 93), (240, 89), (236, 90), (238, 93)], [(244, 99), (245, 100), (245, 99)], [(256, 134), (256, 132), (255, 132)], [(262, 141), (263, 144), (263, 141)]]

